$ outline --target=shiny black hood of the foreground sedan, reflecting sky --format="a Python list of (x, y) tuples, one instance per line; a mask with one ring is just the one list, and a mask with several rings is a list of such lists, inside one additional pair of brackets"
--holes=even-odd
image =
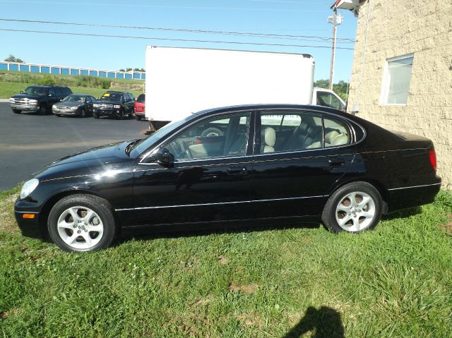
[(136, 161), (125, 153), (130, 141), (111, 143), (92, 149), (76, 152), (44, 166), (32, 177), (47, 181), (75, 176), (96, 175), (108, 170), (121, 168), (122, 162)]

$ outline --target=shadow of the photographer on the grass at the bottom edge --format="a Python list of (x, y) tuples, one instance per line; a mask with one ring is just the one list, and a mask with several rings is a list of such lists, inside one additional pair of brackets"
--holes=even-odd
[(309, 307), (304, 317), (282, 338), (299, 338), (312, 332), (313, 338), (344, 338), (345, 330), (340, 313), (333, 308), (321, 306), (319, 310)]

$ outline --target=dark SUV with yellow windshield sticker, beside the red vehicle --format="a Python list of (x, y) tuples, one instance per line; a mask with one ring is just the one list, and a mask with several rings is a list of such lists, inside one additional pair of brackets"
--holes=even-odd
[(135, 97), (130, 92), (108, 91), (93, 104), (93, 116), (99, 119), (99, 116), (113, 116), (117, 119), (124, 119), (124, 116), (133, 116), (133, 104)]

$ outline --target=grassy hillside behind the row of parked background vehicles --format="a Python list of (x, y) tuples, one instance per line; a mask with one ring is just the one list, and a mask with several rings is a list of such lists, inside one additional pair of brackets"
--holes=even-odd
[(83, 92), (95, 97), (99, 97), (106, 90), (124, 90), (137, 96), (143, 92), (143, 84), (143, 80), (0, 71), (0, 99), (11, 97), (28, 85), (66, 85), (71, 87), (73, 92)]

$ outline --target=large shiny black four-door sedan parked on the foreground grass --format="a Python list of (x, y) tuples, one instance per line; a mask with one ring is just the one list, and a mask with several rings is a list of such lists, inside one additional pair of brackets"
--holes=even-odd
[(23, 235), (93, 251), (145, 226), (295, 219), (357, 233), (431, 203), (440, 185), (427, 138), (326, 107), (249, 105), (52, 162), (24, 184), (15, 212)]

